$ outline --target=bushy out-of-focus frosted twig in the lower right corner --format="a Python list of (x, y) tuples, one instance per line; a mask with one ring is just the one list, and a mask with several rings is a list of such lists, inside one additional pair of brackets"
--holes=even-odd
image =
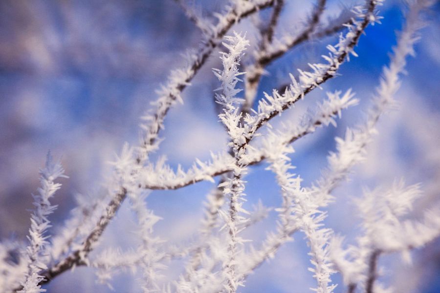
[(418, 185), (405, 187), (400, 180), (389, 189), (366, 190), (364, 196), (356, 200), (363, 229), (357, 246), (343, 250), (341, 237), (334, 238), (330, 245), (332, 261), (350, 288), (360, 284), (365, 292), (375, 292), (381, 254), (400, 251), (408, 260), (409, 250), (440, 236), (439, 207), (426, 211), (422, 222), (403, 220), (421, 194)]

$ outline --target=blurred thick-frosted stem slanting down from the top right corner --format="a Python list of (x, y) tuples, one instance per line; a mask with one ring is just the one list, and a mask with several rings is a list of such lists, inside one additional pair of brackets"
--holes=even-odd
[(377, 132), (376, 125), (379, 117), (395, 105), (394, 95), (400, 87), (400, 75), (404, 72), (406, 57), (414, 55), (414, 43), (418, 40), (417, 31), (422, 27), (418, 19), (420, 11), (432, 3), (430, 0), (414, 2), (410, 7), (407, 23), (399, 35), (397, 46), (393, 49), (393, 56), (389, 67), (384, 67), (380, 85), (376, 88), (373, 105), (367, 115), (367, 121), (353, 129), (347, 129), (344, 138), (336, 138), (337, 152), (330, 153), (328, 170), (317, 181), (323, 196), (330, 192), (345, 178), (349, 170), (357, 163), (365, 160), (365, 147)]

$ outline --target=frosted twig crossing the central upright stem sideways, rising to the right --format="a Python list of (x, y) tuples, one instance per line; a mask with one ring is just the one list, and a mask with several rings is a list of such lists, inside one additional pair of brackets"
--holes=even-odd
[[(298, 125), (288, 125), (283, 130), (284, 145), (292, 144), (305, 135), (314, 132), (318, 127), (335, 125), (335, 116), (340, 116), (341, 111), (357, 104), (356, 99), (352, 99), (350, 91), (342, 97), (341, 92), (328, 93), (328, 99), (322, 104), (317, 105), (317, 109), (309, 111), (304, 115)], [(272, 149), (269, 145), (251, 146), (248, 154), (243, 158), (243, 163), (248, 166), (264, 161)], [(211, 153), (211, 160), (196, 162), (191, 168), (184, 171), (180, 166), (173, 170), (165, 164), (165, 157), (161, 157), (155, 164), (148, 164), (140, 171), (142, 178), (142, 188), (145, 189), (178, 189), (189, 186), (200, 181), (213, 181), (213, 178), (233, 170), (234, 158), (228, 153)]]

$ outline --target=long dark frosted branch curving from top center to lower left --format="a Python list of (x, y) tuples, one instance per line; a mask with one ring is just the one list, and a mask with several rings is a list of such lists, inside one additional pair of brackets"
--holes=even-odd
[[(159, 93), (159, 98), (153, 103), (156, 105), (156, 110), (153, 115), (147, 113), (144, 119), (148, 124), (143, 125), (145, 132), (141, 138), (141, 144), (138, 148), (137, 163), (142, 165), (148, 159), (148, 154), (157, 149), (157, 138), (161, 128), (163, 128), (163, 121), (168, 113), (168, 110), (176, 101), (181, 101), (181, 91), (190, 83), (196, 75), (201, 66), (206, 62), (211, 55), (213, 49), (220, 43), (224, 34), (229, 28), (240, 21), (242, 18), (264, 9), (273, 4), (274, 0), (256, 0), (242, 3), (234, 8), (230, 8), (225, 15), (219, 18), (219, 23), (212, 29), (212, 35), (205, 40), (202, 47), (198, 50), (196, 55), (193, 55), (190, 64), (180, 70), (173, 71), (169, 77), (169, 82), (162, 88)], [(49, 282), (52, 278), (60, 273), (63, 273), (74, 266), (87, 265), (84, 257), (93, 249), (93, 245), (100, 239), (102, 233), (110, 223), (111, 219), (116, 214), (122, 202), (127, 197), (127, 190), (120, 188), (118, 191), (110, 194), (111, 200), (107, 208), (99, 217), (96, 227), (91, 230), (81, 248), (73, 251), (66, 258), (58, 261), (54, 266), (44, 271), (45, 279), (41, 284)]]

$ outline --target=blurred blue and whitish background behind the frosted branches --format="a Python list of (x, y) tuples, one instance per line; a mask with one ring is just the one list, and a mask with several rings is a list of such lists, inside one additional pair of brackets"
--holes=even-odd
[[(337, 15), (342, 6), (355, 1), (328, 1), (324, 19)], [(212, 19), (226, 1), (188, 1), (189, 7)], [(314, 1), (286, 0), (277, 34), (297, 32), (307, 20)], [(292, 164), (309, 186), (327, 165), (334, 150), (334, 137), (362, 120), (378, 85), (382, 66), (396, 44), (396, 30), (403, 24), (403, 1), (387, 0), (380, 8), (382, 24), (368, 27), (356, 48), (358, 58), (345, 63), (339, 76), (315, 90), (307, 99), (283, 114), (285, 121), (301, 117), (309, 106), (325, 97), (326, 91), (352, 88), (360, 105), (343, 113), (338, 127), (325, 127), (295, 143)], [(260, 13), (267, 20), (270, 11)], [(379, 134), (368, 147), (368, 160), (355, 168), (351, 181), (334, 192), (326, 225), (347, 235), (350, 243), (358, 235), (359, 221), (352, 198), (362, 188), (389, 185), (404, 177), (407, 184), (420, 182), (425, 191), (414, 216), (439, 204), (440, 194), (440, 4), (426, 14), (427, 26), (416, 45), (416, 58), (408, 60), (408, 74), (396, 94), (396, 111), (383, 116)], [(253, 45), (255, 17), (233, 27), (247, 32)], [(231, 30), (232, 31), (232, 30)], [(51, 216), (61, 224), (74, 207), (77, 192), (93, 196), (109, 175), (109, 161), (124, 142), (136, 145), (139, 117), (156, 99), (155, 89), (166, 82), (170, 70), (184, 65), (181, 54), (197, 48), (201, 33), (188, 21), (174, 0), (2, 0), (0, 1), (0, 239), (24, 240), (29, 229), (31, 193), (39, 186), (38, 169), (51, 150), (61, 157), (69, 179), (53, 199), (58, 209)], [(320, 62), (326, 45), (336, 36), (307, 42), (267, 67), (259, 97), (288, 81), (288, 73)], [(244, 64), (252, 62), (249, 51)], [(219, 83), (211, 68), (221, 68), (216, 52), (184, 93), (184, 105), (176, 105), (165, 121), (165, 140), (154, 155), (166, 155), (168, 163), (190, 167), (195, 158), (206, 160), (210, 150), (226, 147), (227, 136), (218, 121), (213, 89)], [(274, 122), (276, 126), (280, 119)], [(279, 188), (270, 171), (261, 164), (251, 168), (246, 207), (258, 199), (264, 205), (281, 203)], [(176, 191), (154, 191), (148, 204), (163, 218), (155, 233), (171, 241), (187, 241), (197, 232), (203, 200), (214, 185), (198, 183)], [(265, 231), (274, 230), (277, 214), (246, 232), (255, 245)], [(127, 229), (128, 228), (128, 229)], [(119, 211), (104, 235), (103, 246), (130, 247), (134, 236), (127, 204)], [(127, 231), (122, 234), (121, 231)], [(314, 280), (304, 235), (285, 245), (275, 259), (249, 276), (241, 292), (308, 292)], [(169, 265), (165, 274), (176, 278), (181, 263)], [(381, 259), (381, 280), (395, 292), (440, 292), (440, 242), (414, 251), (413, 266), (403, 265), (400, 256)], [(109, 292), (95, 283), (92, 269), (78, 268), (56, 278), (49, 292)], [(116, 292), (138, 292), (136, 276), (129, 273), (113, 280)], [(341, 278), (335, 292), (345, 292)], [(165, 278), (164, 281), (167, 279)]]

